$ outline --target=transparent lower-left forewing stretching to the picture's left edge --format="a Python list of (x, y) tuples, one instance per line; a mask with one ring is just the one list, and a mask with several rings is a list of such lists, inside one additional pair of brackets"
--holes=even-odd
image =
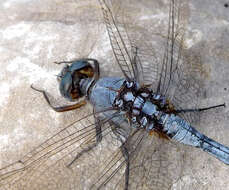
[[(101, 121), (104, 136), (111, 132), (106, 123), (113, 117), (112, 114)], [(95, 142), (98, 135), (96, 124), (94, 114), (87, 115), (50, 137), (19, 161), (1, 168), (1, 189), (69, 189), (77, 184), (74, 180), (80, 179), (76, 176), (78, 171), (72, 171), (69, 164), (83, 149)]]

